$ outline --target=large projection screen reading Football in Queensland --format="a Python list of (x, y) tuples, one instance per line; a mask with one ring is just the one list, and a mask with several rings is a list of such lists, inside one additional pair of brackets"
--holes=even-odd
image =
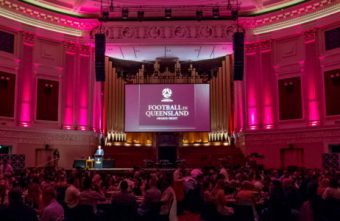
[(125, 132), (210, 131), (209, 84), (125, 85)]

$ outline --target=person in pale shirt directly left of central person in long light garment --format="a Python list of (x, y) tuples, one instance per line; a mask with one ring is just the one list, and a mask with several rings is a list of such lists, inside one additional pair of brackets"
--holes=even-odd
[[(142, 217), (148, 216), (150, 213), (157, 212), (159, 214), (159, 203), (161, 200), (161, 191), (157, 188), (157, 177), (151, 175), (149, 179), (149, 189), (146, 190), (144, 199), (138, 208), (138, 214)], [(153, 214), (150, 214), (153, 215)]]

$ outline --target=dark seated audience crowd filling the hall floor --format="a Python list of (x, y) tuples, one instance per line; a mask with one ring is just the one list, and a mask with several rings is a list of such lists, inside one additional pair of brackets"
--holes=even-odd
[(14, 171), (0, 164), (1, 221), (339, 221), (336, 170), (257, 166), (133, 173)]

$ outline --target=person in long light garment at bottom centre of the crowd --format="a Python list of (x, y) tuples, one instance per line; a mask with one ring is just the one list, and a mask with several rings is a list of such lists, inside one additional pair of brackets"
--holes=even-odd
[(174, 189), (172, 188), (172, 177), (164, 176), (160, 180), (161, 190), (161, 209), (160, 215), (162, 221), (177, 221), (177, 199)]

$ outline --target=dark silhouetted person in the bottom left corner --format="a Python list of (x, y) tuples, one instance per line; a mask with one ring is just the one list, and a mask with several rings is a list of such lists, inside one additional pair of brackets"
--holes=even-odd
[(9, 205), (0, 211), (2, 221), (38, 221), (35, 211), (23, 203), (22, 192), (12, 189), (8, 194)]

